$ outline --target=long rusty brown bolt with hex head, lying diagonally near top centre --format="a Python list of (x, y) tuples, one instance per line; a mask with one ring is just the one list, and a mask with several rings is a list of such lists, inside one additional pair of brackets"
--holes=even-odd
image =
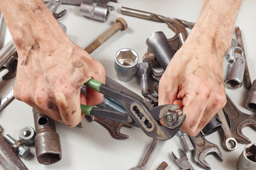
[(105, 33), (100, 35), (97, 40), (92, 42), (91, 45), (85, 48), (85, 51), (87, 51), (89, 54), (94, 52), (97, 47), (100, 47), (104, 42), (106, 42), (108, 39), (110, 39), (115, 33), (117, 33), (119, 30), (126, 30), (128, 28), (127, 22), (124, 20), (124, 18), (117, 18), (116, 23), (112, 28), (107, 30)]

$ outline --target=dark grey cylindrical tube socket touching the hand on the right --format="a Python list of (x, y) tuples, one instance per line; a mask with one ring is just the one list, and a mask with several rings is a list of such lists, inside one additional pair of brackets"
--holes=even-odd
[(146, 39), (146, 45), (149, 50), (154, 53), (156, 60), (163, 69), (166, 69), (171, 58), (174, 57), (174, 50), (169, 44), (163, 32), (155, 32)]

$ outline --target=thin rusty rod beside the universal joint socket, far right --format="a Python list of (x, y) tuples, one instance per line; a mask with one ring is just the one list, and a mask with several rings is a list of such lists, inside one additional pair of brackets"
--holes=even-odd
[[(241, 33), (241, 30), (240, 30), (240, 28), (238, 26), (235, 27), (235, 36), (236, 36), (236, 39), (238, 41), (238, 45), (242, 48), (243, 55), (245, 57), (245, 47), (244, 47), (243, 42), (242, 42), (242, 33)], [(249, 72), (249, 68), (248, 68), (246, 57), (245, 57), (245, 74), (244, 74), (244, 79), (245, 79), (245, 87), (246, 87), (246, 89), (250, 89), (250, 87), (252, 86), (252, 82), (250, 80), (250, 72)]]

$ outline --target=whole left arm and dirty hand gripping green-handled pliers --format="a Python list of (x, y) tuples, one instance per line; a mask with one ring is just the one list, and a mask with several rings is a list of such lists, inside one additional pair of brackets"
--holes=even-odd
[[(80, 123), (80, 101), (93, 106), (102, 94), (82, 85), (105, 82), (105, 69), (75, 45), (41, 0), (3, 0), (1, 12), (18, 52), (14, 96), (53, 120), (73, 127)], [(15, 16), (15, 17), (14, 17)]]

